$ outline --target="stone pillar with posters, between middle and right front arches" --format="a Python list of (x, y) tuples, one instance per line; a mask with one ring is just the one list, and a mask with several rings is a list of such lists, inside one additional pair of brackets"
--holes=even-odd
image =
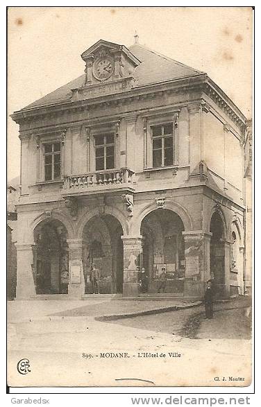
[(140, 292), (139, 273), (142, 267), (142, 236), (121, 237), (124, 243), (124, 297)]

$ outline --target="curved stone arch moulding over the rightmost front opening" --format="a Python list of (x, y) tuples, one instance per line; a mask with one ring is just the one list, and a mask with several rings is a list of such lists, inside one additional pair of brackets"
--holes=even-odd
[[(133, 227), (133, 234), (138, 234), (140, 235), (140, 228), (142, 225), (142, 220), (145, 218), (145, 216), (149, 215), (152, 211), (155, 211), (155, 209), (158, 209), (158, 206), (156, 202), (152, 202), (151, 204), (147, 205), (144, 207), (141, 211), (140, 214), (137, 216), (137, 221), (135, 222), (135, 225)], [(193, 230), (193, 223), (192, 223), (192, 218), (190, 214), (187, 212), (187, 210), (177, 202), (172, 202), (170, 200), (165, 201), (164, 209), (169, 209), (170, 211), (173, 211), (175, 214), (177, 214), (180, 219), (183, 221), (184, 229), (185, 231)]]

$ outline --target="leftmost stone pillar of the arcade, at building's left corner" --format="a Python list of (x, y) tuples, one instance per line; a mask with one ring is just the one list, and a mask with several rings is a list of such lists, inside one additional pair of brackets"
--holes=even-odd
[(15, 246), (17, 249), (16, 299), (28, 300), (36, 295), (35, 281), (33, 277), (33, 245), (19, 245), (15, 243)]

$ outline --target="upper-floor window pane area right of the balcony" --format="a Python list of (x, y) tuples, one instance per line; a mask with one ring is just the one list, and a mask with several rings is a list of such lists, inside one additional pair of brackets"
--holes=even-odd
[(169, 166), (174, 164), (174, 135), (173, 123), (153, 125), (152, 149), (153, 167)]

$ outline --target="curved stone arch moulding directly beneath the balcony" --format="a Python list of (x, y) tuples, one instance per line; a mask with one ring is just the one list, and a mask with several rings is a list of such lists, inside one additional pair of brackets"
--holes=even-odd
[[(111, 215), (114, 216), (117, 220), (119, 220), (119, 223), (121, 224), (122, 230), (124, 231), (124, 236), (128, 236), (129, 234), (129, 226), (128, 226), (128, 220), (122, 214), (119, 209), (108, 207), (105, 205), (103, 214)], [(76, 235), (78, 239), (82, 239), (83, 236), (83, 228), (85, 227), (86, 223), (93, 217), (93, 216), (99, 216), (101, 215), (101, 210), (99, 207), (95, 207), (94, 209), (87, 209), (85, 213), (81, 216), (81, 218), (78, 220), (77, 223), (77, 229), (76, 229)]]

